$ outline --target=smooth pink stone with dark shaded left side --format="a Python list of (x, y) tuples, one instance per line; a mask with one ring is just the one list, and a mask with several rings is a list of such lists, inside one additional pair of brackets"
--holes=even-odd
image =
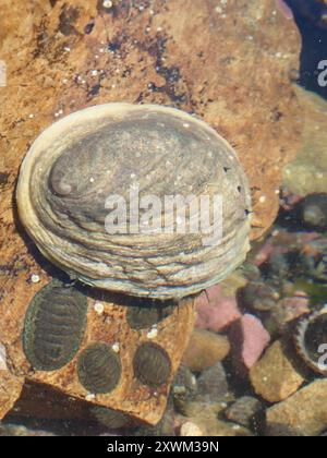
[(262, 322), (250, 314), (243, 315), (230, 328), (230, 342), (234, 367), (242, 374), (258, 361), (270, 341)]

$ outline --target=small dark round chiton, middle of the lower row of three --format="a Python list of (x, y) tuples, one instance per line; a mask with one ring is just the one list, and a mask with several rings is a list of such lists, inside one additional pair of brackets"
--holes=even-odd
[(120, 358), (106, 343), (90, 343), (78, 358), (77, 374), (81, 384), (89, 393), (110, 393), (120, 381)]

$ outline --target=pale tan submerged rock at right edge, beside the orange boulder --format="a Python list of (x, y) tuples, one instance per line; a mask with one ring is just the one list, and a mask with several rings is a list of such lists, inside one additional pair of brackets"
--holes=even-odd
[(327, 101), (314, 93), (294, 86), (303, 108), (303, 146), (283, 171), (283, 183), (299, 195), (327, 192)]

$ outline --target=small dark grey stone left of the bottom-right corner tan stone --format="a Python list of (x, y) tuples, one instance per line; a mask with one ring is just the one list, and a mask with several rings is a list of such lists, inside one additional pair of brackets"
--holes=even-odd
[(255, 418), (263, 412), (263, 405), (256, 398), (244, 396), (226, 410), (228, 420), (251, 427)]

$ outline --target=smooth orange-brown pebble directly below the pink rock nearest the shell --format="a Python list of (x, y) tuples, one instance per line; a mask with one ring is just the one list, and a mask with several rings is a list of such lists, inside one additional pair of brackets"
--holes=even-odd
[(205, 329), (194, 329), (183, 362), (191, 371), (202, 372), (225, 360), (229, 351), (230, 343), (227, 337)]

